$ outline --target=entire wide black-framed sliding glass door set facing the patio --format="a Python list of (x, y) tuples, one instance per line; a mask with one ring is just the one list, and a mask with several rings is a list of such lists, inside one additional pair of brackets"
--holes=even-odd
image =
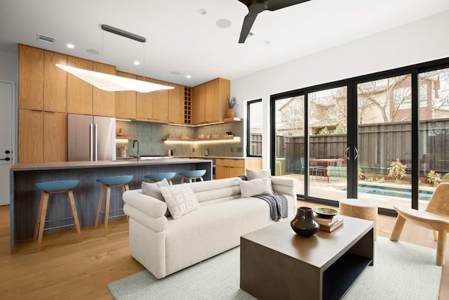
[(449, 59), (276, 94), (271, 107), (272, 168), (283, 160), (305, 200), (394, 214), (449, 182)]

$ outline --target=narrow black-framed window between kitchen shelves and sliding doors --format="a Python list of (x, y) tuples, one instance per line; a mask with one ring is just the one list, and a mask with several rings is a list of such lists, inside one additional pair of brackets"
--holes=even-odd
[(246, 154), (262, 156), (262, 99), (248, 101)]

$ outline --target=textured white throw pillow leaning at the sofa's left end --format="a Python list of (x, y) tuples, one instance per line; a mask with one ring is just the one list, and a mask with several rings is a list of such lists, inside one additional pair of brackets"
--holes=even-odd
[(161, 188), (161, 193), (173, 219), (180, 218), (180, 216), (199, 208), (194, 191), (186, 183)]

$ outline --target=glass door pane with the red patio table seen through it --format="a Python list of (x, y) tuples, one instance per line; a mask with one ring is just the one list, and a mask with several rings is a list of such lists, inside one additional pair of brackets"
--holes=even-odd
[(307, 93), (309, 197), (347, 196), (347, 86)]

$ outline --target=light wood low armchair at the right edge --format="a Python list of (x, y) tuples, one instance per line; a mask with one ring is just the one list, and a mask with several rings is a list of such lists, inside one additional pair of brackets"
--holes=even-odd
[(394, 209), (398, 212), (398, 218), (394, 224), (390, 240), (399, 240), (406, 221), (434, 230), (434, 240), (438, 240), (436, 264), (443, 266), (445, 261), (446, 239), (449, 231), (449, 183), (440, 183), (436, 187), (434, 195), (432, 195), (424, 211), (408, 207), (398, 207), (396, 205)]

